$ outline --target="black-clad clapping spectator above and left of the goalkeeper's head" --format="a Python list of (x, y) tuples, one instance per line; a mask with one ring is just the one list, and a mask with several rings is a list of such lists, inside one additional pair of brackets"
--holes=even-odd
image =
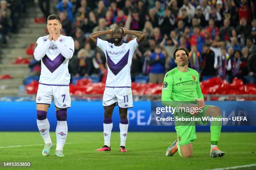
[(164, 16), (159, 17), (159, 27), (162, 34), (170, 34), (170, 31), (174, 29), (175, 16), (172, 14), (168, 7), (164, 10)]

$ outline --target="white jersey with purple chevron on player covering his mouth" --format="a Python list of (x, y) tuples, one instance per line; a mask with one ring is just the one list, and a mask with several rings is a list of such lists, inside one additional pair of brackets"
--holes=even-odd
[[(46, 43), (48, 37), (49, 35), (38, 38), (35, 51)], [(72, 37), (61, 35), (56, 41), (61, 42), (74, 53), (74, 40)], [(50, 46), (46, 50), (46, 55), (41, 59), (41, 75), (39, 82), (47, 85), (69, 85), (69, 60), (61, 54), (54, 40), (51, 40), (49, 44)]]

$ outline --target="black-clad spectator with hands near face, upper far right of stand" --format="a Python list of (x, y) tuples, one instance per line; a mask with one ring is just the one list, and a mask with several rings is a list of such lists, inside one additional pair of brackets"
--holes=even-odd
[(239, 25), (236, 27), (236, 33), (241, 37), (242, 45), (246, 44), (246, 38), (250, 35), (251, 26), (247, 24), (246, 18), (242, 18), (239, 21)]

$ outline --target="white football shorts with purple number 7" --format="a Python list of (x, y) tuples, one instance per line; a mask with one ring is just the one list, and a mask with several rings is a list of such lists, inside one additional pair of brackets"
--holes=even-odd
[(46, 85), (40, 83), (36, 95), (36, 104), (50, 106), (52, 100), (55, 107), (59, 109), (71, 107), (69, 85)]

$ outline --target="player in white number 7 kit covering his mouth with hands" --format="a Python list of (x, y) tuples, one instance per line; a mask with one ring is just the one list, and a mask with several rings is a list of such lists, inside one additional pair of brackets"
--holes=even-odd
[(36, 41), (34, 57), (41, 60), (41, 75), (36, 95), (37, 126), (44, 139), (43, 156), (50, 155), (53, 148), (46, 117), (52, 100), (56, 107), (56, 151), (55, 156), (63, 157), (63, 147), (67, 138), (67, 108), (71, 106), (69, 95), (69, 60), (74, 54), (74, 40), (60, 34), (61, 20), (58, 15), (49, 15), (47, 29), (49, 35)]

